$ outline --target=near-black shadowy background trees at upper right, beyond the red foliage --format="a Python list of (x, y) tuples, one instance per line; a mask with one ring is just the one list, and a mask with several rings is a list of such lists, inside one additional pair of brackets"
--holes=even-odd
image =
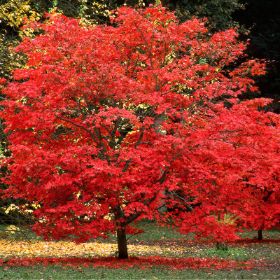
[(274, 100), (269, 110), (280, 112), (280, 20), (279, 1), (247, 0), (245, 9), (235, 14), (240, 25), (250, 30), (248, 54), (267, 61), (267, 74), (258, 80), (261, 95)]

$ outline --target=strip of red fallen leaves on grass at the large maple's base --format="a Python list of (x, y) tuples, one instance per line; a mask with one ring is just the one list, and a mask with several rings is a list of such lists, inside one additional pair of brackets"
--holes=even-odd
[[(116, 260), (116, 258), (12, 258), (0, 259), (0, 266), (18, 267), (34, 265), (62, 265), (70, 267), (104, 267), (128, 269), (138, 267), (148, 269), (155, 266), (164, 266), (169, 269), (252, 269), (253, 261), (235, 261), (214, 258), (163, 258), (141, 257), (128, 260)], [(260, 263), (258, 263), (258, 266)]]

